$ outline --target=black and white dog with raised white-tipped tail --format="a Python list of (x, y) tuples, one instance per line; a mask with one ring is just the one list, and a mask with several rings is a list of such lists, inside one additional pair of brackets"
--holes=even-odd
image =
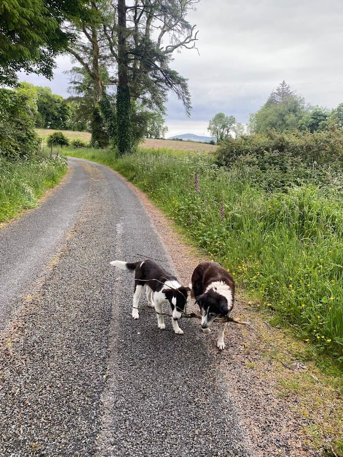
[[(182, 286), (175, 276), (167, 273), (153, 260), (147, 259), (134, 263), (113, 260), (110, 264), (122, 270), (135, 270), (134, 304), (132, 306), (134, 319), (139, 318), (138, 302), (145, 286), (149, 306), (154, 307), (157, 313), (162, 313), (162, 304), (168, 303), (173, 316), (174, 332), (183, 335), (183, 331), (178, 325), (178, 319), (181, 319), (184, 311), (189, 287)], [(165, 329), (163, 315), (157, 314), (157, 324), (159, 329)]]

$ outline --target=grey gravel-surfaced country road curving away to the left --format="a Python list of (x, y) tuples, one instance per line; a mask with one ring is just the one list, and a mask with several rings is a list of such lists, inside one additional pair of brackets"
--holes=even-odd
[(252, 455), (198, 323), (175, 335), (169, 318), (131, 318), (132, 273), (109, 261), (174, 270), (137, 196), (109, 168), (69, 162), (0, 231), (0, 455)]

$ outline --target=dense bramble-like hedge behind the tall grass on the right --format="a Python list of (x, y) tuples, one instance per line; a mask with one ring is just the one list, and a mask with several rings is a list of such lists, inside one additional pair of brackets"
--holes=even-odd
[(228, 138), (216, 151), (216, 163), (231, 168), (237, 160), (242, 170), (250, 170), (251, 182), (266, 188), (287, 188), (304, 180), (325, 183), (342, 167), (343, 131)]

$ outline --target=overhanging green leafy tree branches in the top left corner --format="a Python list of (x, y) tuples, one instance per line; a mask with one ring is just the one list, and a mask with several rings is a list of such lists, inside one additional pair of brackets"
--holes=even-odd
[(71, 35), (61, 30), (66, 19), (83, 16), (83, 0), (6, 0), (0, 3), (0, 85), (14, 86), (16, 72), (52, 77), (54, 56)]

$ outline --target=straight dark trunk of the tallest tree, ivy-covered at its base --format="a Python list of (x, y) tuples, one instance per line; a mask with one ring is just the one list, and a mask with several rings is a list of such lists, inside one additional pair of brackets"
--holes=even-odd
[(118, 86), (117, 86), (117, 124), (118, 154), (132, 152), (132, 126), (130, 90), (128, 87), (128, 55), (126, 49), (126, 4), (118, 0)]

